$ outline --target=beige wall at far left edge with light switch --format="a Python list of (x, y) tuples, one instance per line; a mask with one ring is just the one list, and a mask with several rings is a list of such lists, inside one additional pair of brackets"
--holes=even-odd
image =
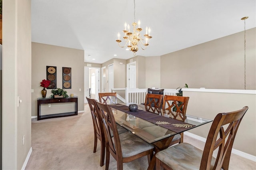
[(3, 1), (2, 169), (21, 169), (31, 148), (30, 3)]

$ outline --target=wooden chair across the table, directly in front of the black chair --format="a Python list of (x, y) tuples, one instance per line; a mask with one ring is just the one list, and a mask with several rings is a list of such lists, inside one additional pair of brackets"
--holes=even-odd
[(163, 95), (147, 93), (144, 103), (146, 111), (158, 114), (161, 113), (162, 99)]

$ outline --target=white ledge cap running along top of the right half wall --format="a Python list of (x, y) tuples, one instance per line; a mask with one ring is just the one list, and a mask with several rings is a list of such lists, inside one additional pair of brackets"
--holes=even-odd
[(188, 89), (182, 88), (182, 91), (211, 92), (211, 93), (240, 93), (240, 94), (256, 94), (256, 90), (237, 90), (237, 89)]

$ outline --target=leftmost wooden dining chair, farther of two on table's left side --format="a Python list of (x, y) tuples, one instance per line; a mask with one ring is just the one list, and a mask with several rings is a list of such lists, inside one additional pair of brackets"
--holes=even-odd
[(93, 153), (96, 152), (97, 141), (100, 140), (100, 166), (104, 165), (105, 158), (105, 137), (104, 137), (104, 127), (102, 124), (102, 119), (98, 114), (98, 106), (95, 103), (94, 99), (90, 99), (86, 97), (88, 101), (88, 105), (90, 107), (90, 111), (92, 114), (92, 122), (94, 128), (94, 148)]

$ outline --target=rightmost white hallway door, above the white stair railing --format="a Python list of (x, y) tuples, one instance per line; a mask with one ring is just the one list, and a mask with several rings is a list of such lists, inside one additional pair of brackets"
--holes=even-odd
[(127, 88), (136, 88), (136, 61), (127, 64)]

